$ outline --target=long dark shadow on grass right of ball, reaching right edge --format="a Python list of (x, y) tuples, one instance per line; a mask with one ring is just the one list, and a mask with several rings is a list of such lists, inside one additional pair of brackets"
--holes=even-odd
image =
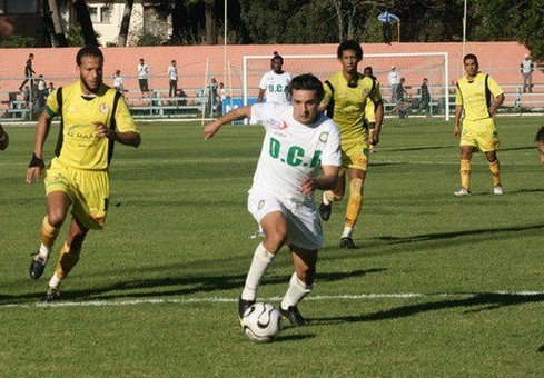
[[(544, 294), (496, 294), (482, 292), (463, 299), (445, 299), (439, 301), (429, 301), (425, 304), (400, 306), (385, 311), (378, 311), (368, 315), (343, 316), (332, 318), (315, 319), (319, 322), (358, 322), (358, 321), (377, 321), (398, 319), (414, 316), (422, 312), (438, 311), (453, 308), (467, 308), (464, 314), (477, 312), (484, 310), (494, 310), (506, 306), (517, 306), (524, 304), (542, 302)], [(481, 308), (475, 308), (481, 307)]]

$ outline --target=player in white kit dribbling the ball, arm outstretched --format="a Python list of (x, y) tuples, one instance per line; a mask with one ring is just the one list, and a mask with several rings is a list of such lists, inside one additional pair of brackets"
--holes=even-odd
[(293, 105), (256, 103), (229, 111), (206, 126), (205, 138), (211, 138), (225, 123), (248, 117), (265, 128), (248, 197), (248, 210), (263, 226), (265, 239), (255, 250), (238, 315), (241, 319), (255, 304), (261, 278), (287, 245), (295, 272), (280, 311), (293, 325), (303, 326), (306, 321), (297, 305), (311, 290), (317, 250), (323, 246), (314, 191), (335, 188), (342, 161), (338, 128), (317, 109), (324, 97), (319, 79), (295, 77), (289, 94)]

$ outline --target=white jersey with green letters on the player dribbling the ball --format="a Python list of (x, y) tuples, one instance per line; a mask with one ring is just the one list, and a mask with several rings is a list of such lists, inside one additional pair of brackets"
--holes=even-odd
[(266, 131), (251, 190), (304, 201), (305, 176), (317, 176), (320, 166), (340, 166), (338, 129), (328, 117), (304, 125), (293, 118), (291, 106), (265, 102), (251, 107), (251, 121)]

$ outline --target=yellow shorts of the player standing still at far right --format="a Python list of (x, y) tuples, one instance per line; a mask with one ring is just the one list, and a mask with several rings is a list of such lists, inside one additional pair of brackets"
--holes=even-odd
[(493, 118), (463, 120), (461, 146), (472, 146), (482, 152), (489, 152), (496, 150), (498, 145), (498, 133)]

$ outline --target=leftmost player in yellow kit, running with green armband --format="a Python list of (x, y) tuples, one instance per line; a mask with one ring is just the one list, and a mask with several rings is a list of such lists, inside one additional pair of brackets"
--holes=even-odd
[(59, 298), (60, 282), (76, 266), (89, 229), (101, 229), (109, 200), (108, 167), (113, 145), (138, 147), (140, 135), (125, 98), (102, 82), (103, 56), (97, 47), (83, 47), (76, 57), (79, 81), (48, 97), (36, 129), (36, 141), (27, 169), (27, 182), (44, 171), (43, 145), (51, 120), (62, 117), (56, 157), (46, 175), (47, 215), (41, 245), (30, 263), (30, 277), (43, 273), (50, 251), (71, 207), (72, 220), (60, 250), (57, 270), (49, 280), (46, 301)]

